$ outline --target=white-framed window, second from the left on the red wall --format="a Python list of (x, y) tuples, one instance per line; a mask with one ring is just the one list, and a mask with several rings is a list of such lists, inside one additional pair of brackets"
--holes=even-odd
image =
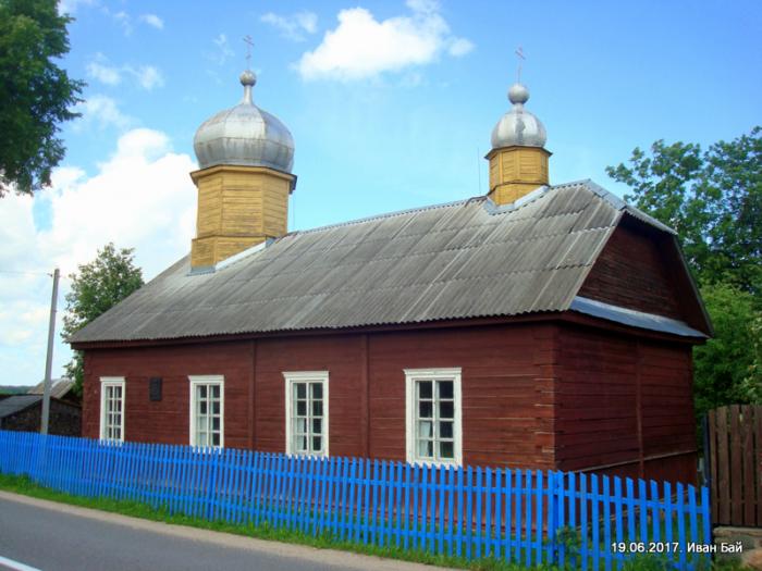
[(225, 444), (225, 380), (190, 375), (190, 446), (222, 448)]

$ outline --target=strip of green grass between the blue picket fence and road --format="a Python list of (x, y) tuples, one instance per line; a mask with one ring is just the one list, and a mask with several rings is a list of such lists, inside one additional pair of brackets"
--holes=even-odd
[[(198, 527), (216, 532), (232, 533), (235, 535), (256, 537), (259, 539), (306, 545), (318, 549), (337, 549), (342, 551), (352, 551), (356, 554), (372, 555), (398, 559), (402, 561), (411, 561), (453, 569), (471, 569), (474, 571), (557, 571), (558, 569), (555, 566), (546, 564), (527, 568), (518, 563), (509, 563), (491, 557), (467, 560), (465, 558), (432, 555), (427, 551), (404, 549), (395, 546), (380, 547), (377, 545), (365, 545), (361, 543), (340, 541), (328, 533), (314, 536), (308, 533), (286, 530), (283, 527), (274, 527), (268, 523), (260, 525), (237, 525), (224, 521), (209, 521), (205, 519), (189, 518), (187, 516), (170, 513), (165, 508), (157, 509), (147, 504), (140, 504), (137, 501), (115, 500), (106, 497), (90, 498), (73, 496), (71, 494), (65, 494), (40, 486), (26, 476), (13, 476), (0, 473), (0, 489), (39, 499), (121, 513), (123, 516), (142, 518), (145, 520), (186, 525), (189, 527)], [(572, 549), (574, 549), (573, 545), (568, 545), (567, 547), (572, 547)], [(666, 571), (668, 569), (672, 568), (667, 564), (666, 559), (649, 556), (635, 557), (626, 561), (624, 566), (625, 571)], [(745, 568), (742, 568), (737, 561), (724, 560), (714, 562), (711, 569), (714, 571), (743, 571)]]

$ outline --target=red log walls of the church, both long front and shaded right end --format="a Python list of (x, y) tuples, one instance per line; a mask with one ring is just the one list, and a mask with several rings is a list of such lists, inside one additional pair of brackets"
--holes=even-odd
[(187, 444), (188, 375), (222, 374), (225, 445), (283, 451), (283, 372), (328, 370), (331, 455), (404, 460), (403, 370), (450, 367), (467, 464), (695, 477), (690, 348), (550, 322), (88, 350), (83, 434), (98, 436), (99, 377), (125, 376), (126, 439)]

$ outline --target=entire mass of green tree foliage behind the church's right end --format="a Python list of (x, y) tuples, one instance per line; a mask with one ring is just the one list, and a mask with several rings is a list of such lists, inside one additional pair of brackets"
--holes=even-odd
[(677, 231), (698, 277), (714, 337), (693, 350), (697, 414), (762, 402), (762, 128), (705, 152), (657, 140), (606, 172)]

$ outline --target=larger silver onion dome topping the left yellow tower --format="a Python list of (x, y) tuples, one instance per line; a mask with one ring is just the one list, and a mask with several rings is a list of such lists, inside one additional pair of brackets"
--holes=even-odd
[(262, 111), (251, 100), (257, 76), (241, 74), (244, 97), (232, 109), (205, 121), (193, 139), (199, 169), (218, 164), (269, 166), (291, 173), (294, 139), (278, 117)]

